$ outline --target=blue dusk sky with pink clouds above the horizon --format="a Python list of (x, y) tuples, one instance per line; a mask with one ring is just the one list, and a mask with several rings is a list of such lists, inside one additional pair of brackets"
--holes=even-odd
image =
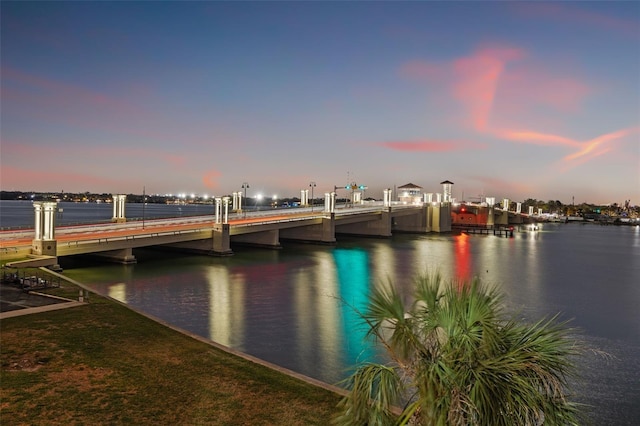
[(640, 204), (640, 2), (0, 11), (2, 190)]

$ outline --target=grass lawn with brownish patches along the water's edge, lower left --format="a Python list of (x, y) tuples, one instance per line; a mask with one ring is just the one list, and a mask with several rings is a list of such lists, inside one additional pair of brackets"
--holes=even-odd
[(326, 425), (340, 399), (96, 295), (0, 327), (2, 425)]

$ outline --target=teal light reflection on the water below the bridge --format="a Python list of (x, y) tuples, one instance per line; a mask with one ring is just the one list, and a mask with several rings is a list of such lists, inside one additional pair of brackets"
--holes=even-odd
[(358, 312), (364, 312), (370, 292), (369, 254), (362, 249), (335, 249), (333, 258), (338, 275), (338, 289), (342, 304), (342, 326), (345, 355), (350, 361), (361, 362), (372, 358), (371, 345)]

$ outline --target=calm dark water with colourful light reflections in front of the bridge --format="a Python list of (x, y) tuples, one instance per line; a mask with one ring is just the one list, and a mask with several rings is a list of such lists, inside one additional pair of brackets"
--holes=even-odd
[[(170, 206), (175, 207), (175, 206)], [(4, 216), (6, 210), (2, 210)], [(110, 213), (109, 213), (110, 214)], [(4, 221), (4, 217), (3, 217)], [(178, 327), (311, 377), (336, 383), (379, 356), (353, 307), (391, 279), (439, 269), (480, 276), (529, 320), (561, 313), (586, 343), (576, 399), (592, 424), (640, 422), (640, 228), (543, 224), (514, 238), (400, 235), (336, 246), (235, 248), (226, 258), (136, 252), (138, 264), (63, 260), (65, 274)], [(346, 302), (346, 303), (345, 303)]]

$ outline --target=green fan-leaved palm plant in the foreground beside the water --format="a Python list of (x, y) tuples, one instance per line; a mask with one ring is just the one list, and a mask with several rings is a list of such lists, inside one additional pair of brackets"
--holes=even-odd
[(557, 317), (509, 319), (495, 290), (439, 274), (416, 280), (409, 309), (388, 285), (361, 315), (391, 361), (345, 381), (336, 424), (578, 424), (566, 395), (578, 349)]

